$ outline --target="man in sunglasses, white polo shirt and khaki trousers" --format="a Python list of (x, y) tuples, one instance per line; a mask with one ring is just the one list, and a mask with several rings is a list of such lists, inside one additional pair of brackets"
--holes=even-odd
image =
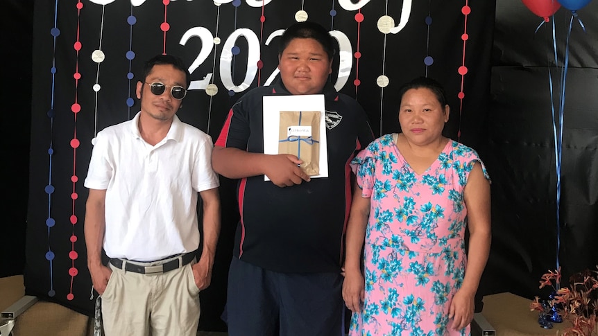
[[(87, 266), (105, 335), (196, 335), (220, 232), (209, 135), (176, 112), (189, 86), (180, 58), (157, 55), (137, 82), (141, 111), (96, 136), (85, 179)], [(203, 249), (198, 193), (203, 201)], [(102, 249), (110, 258), (101, 262)]]

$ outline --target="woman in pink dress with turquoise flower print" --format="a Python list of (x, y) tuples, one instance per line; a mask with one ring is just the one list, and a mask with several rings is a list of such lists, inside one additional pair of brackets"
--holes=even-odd
[(402, 133), (373, 141), (351, 163), (350, 335), (470, 335), (490, 251), (490, 178), (475, 150), (442, 136), (449, 107), (438, 82), (417, 78), (400, 96)]

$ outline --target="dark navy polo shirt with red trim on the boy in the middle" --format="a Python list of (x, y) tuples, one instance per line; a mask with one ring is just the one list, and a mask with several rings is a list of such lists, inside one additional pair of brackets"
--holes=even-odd
[[(327, 83), (328, 176), (280, 188), (264, 175), (239, 180), (234, 256), (275, 272), (339, 272), (351, 204), (354, 154), (373, 141), (364, 109)], [(263, 97), (289, 95), (282, 81), (257, 87), (230, 109), (216, 146), (264, 152)]]

